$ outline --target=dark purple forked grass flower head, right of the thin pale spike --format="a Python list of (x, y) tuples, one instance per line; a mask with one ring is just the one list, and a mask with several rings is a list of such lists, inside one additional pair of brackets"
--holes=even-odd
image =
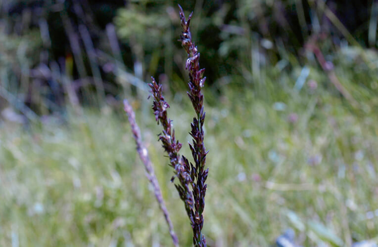
[(153, 78), (149, 86), (154, 99), (152, 109), (155, 119), (158, 124), (160, 123), (163, 126), (163, 131), (159, 134), (159, 140), (162, 142), (162, 146), (169, 156), (170, 165), (174, 168), (175, 174), (179, 179), (179, 184), (175, 184), (175, 186), (181, 200), (184, 202), (190, 219), (193, 230), (193, 245), (195, 247), (205, 247), (206, 239), (201, 234), (201, 231), (203, 227), (203, 210), (207, 188), (205, 182), (208, 169), (205, 169), (207, 154), (203, 131), (205, 111), (203, 110), (201, 88), (206, 78), (203, 77), (205, 70), (199, 67), (199, 52), (192, 41), (189, 29), (192, 13), (186, 19), (182, 7), (180, 5), (179, 7), (181, 26), (183, 28), (180, 41), (188, 54), (186, 69), (189, 71), (189, 91), (187, 93), (196, 113), (193, 122), (190, 124), (192, 144), (189, 143), (194, 165), (189, 163), (186, 157), (179, 154), (182, 144), (176, 140), (172, 121), (167, 117), (169, 105), (162, 95), (162, 86)]

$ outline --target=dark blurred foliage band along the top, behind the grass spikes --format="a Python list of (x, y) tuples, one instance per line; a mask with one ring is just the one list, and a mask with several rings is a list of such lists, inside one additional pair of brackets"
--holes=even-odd
[(39, 115), (62, 111), (64, 81), (91, 106), (106, 95), (138, 94), (134, 86), (143, 88), (150, 76), (183, 90), (178, 3), (194, 11), (201, 66), (218, 93), (225, 83), (259, 87), (265, 66), (319, 66), (304, 48), (313, 37), (325, 37), (318, 45), (327, 60), (348, 45), (376, 52), (375, 1), (1, 0), (1, 86)]

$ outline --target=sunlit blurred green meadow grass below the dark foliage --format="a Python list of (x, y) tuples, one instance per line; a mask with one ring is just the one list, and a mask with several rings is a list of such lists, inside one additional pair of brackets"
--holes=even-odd
[[(268, 75), (260, 91), (205, 92), (209, 246), (268, 246), (287, 228), (303, 246), (377, 239), (377, 217), (366, 218), (378, 209), (376, 92), (347, 83), (377, 76), (340, 71), (361, 108), (314, 68), (314, 92), (307, 85), (293, 91), (295, 73)], [(170, 118), (190, 157), (193, 112), (187, 98), (175, 98)], [(160, 126), (152, 113), (136, 112), (180, 243), (189, 246), (189, 221), (157, 142)], [(52, 119), (27, 129), (4, 123), (0, 136), (0, 246), (171, 246), (120, 108), (85, 109), (65, 124)]]

